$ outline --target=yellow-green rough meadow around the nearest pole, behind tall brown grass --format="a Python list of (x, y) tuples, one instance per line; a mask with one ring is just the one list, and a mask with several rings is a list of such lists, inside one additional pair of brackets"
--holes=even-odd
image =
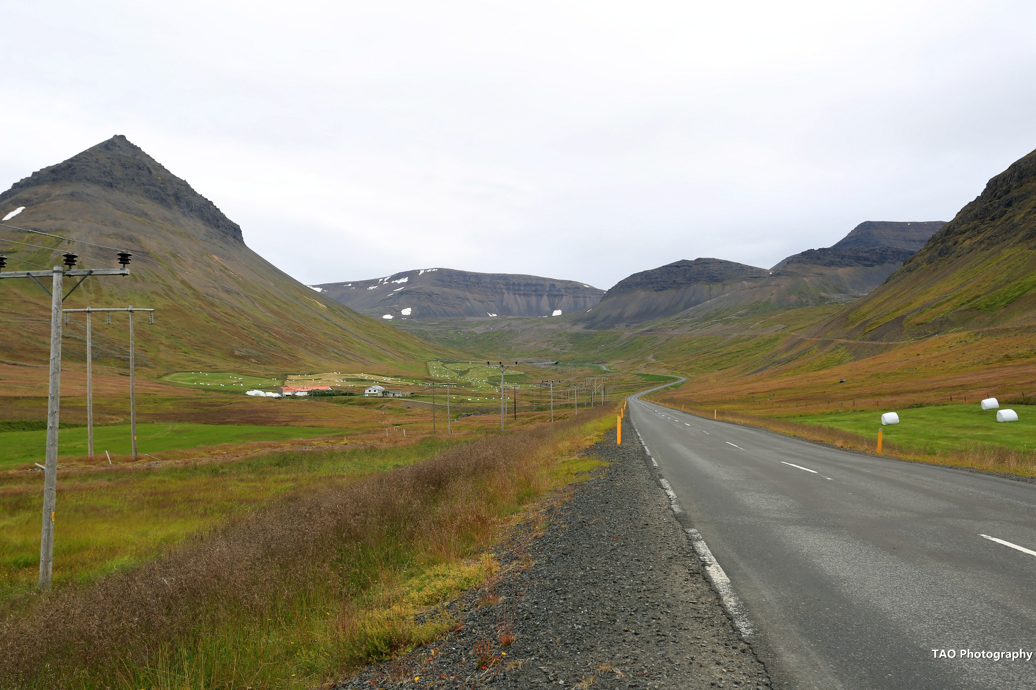
[[(7, 436), (7, 434), (5, 434)], [(243, 515), (286, 491), (343, 483), (424, 459), (454, 441), (272, 452), (233, 462), (118, 468), (61, 475), (54, 539), (56, 587), (128, 567), (188, 535)], [(27, 592), (39, 564), (42, 479), (0, 478), (0, 601)]]

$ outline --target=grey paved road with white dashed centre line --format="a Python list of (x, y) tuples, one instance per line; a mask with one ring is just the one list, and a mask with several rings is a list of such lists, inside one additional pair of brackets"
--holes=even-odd
[(1036, 485), (629, 409), (775, 687), (1036, 688)]

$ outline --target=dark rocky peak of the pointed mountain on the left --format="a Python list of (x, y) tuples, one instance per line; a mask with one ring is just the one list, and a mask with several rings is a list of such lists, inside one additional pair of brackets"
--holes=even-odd
[(202, 220), (226, 239), (243, 242), (240, 226), (122, 134), (115, 134), (67, 160), (16, 182), (0, 194), (0, 203), (34, 187), (68, 184), (144, 197)]

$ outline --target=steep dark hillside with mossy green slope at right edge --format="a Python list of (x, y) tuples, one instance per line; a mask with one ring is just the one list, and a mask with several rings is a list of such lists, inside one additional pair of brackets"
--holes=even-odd
[(884, 284), (814, 334), (894, 340), (1036, 314), (1036, 151), (994, 177)]

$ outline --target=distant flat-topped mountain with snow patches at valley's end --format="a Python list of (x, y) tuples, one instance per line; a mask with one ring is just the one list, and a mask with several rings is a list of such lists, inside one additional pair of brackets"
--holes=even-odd
[(362, 313), (392, 319), (550, 317), (585, 311), (604, 294), (538, 275), (416, 269), (383, 278), (311, 286)]

